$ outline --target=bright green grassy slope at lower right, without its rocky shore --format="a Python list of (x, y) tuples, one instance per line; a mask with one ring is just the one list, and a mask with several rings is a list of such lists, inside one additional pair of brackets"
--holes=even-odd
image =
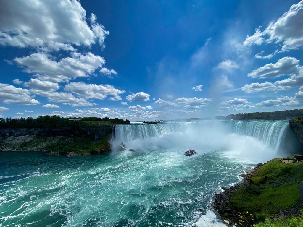
[(302, 176), (303, 161), (286, 164), (273, 159), (261, 166), (250, 183), (233, 192), (232, 206), (240, 212), (249, 211), (257, 221), (279, 214), (298, 214)]

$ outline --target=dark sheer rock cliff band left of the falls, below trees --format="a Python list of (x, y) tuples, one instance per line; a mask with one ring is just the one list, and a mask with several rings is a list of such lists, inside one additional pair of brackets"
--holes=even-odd
[(77, 127), (77, 128), (4, 128), (0, 129), (0, 137), (10, 136), (66, 136), (90, 137), (99, 140), (112, 135), (113, 126)]

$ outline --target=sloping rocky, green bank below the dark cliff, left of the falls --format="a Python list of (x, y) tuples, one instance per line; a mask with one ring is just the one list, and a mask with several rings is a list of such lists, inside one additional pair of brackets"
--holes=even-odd
[(111, 151), (109, 137), (94, 140), (90, 137), (66, 136), (11, 136), (0, 139), (0, 151), (41, 151), (67, 157), (108, 153)]

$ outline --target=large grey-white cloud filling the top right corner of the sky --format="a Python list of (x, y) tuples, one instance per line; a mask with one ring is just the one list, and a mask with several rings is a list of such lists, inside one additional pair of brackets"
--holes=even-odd
[(261, 31), (260, 28), (256, 29), (254, 35), (246, 37), (244, 45), (261, 45), (264, 42), (282, 43), (279, 52), (301, 48), (303, 45), (302, 21), (303, 1), (292, 5), (289, 11), (285, 12), (276, 21), (271, 21), (264, 31)]

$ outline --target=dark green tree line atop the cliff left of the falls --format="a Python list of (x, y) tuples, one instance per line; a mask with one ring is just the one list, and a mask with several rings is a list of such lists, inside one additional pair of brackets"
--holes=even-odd
[[(69, 119), (80, 119), (81, 121), (70, 121)], [(67, 118), (54, 116), (39, 116), (37, 118), (0, 118), (0, 128), (59, 128), (59, 127), (78, 127), (82, 121), (108, 121), (112, 124), (129, 124), (129, 120), (119, 118), (100, 118), (100, 117), (79, 117)]]

